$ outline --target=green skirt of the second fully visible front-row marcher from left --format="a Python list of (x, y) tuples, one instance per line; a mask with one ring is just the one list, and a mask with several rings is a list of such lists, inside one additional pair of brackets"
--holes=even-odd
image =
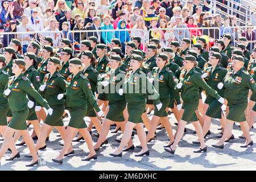
[(69, 120), (68, 126), (75, 127), (76, 129), (84, 129), (87, 127), (84, 117), (87, 112), (87, 106), (81, 106), (76, 108), (69, 108), (71, 119)]

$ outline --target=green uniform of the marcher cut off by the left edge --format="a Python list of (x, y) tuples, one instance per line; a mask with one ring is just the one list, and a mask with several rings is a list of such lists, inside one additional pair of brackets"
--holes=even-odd
[(0, 126), (7, 126), (6, 115), (9, 111), (9, 104), (7, 98), (3, 97), (3, 91), (9, 80), (9, 75), (3, 70), (0, 69)]

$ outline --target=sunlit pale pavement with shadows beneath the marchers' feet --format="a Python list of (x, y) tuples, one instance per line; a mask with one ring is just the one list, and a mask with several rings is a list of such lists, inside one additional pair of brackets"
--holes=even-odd
[[(152, 115), (150, 115), (150, 118)], [(174, 126), (174, 115), (170, 115), (170, 122)], [(65, 121), (67, 124), (67, 121)], [(25, 158), (24, 155), (28, 153), (26, 146), (19, 147), (20, 158), (13, 162), (5, 161), (9, 158), (10, 153), (6, 153), (1, 160), (0, 170), (255, 170), (256, 169), (256, 148), (255, 145), (250, 148), (240, 148), (245, 140), (239, 139), (242, 131), (240, 127), (234, 126), (234, 136), (236, 139), (232, 143), (225, 143), (225, 149), (216, 149), (211, 147), (211, 144), (217, 142), (217, 135), (220, 127), (220, 122), (213, 121), (211, 128), (212, 135), (206, 140), (208, 152), (206, 154), (194, 154), (193, 151), (198, 148), (192, 141), (196, 140), (195, 134), (192, 134), (192, 124), (187, 125), (187, 134), (179, 143), (175, 155), (171, 156), (164, 151), (163, 146), (168, 143), (166, 130), (158, 130), (157, 142), (148, 144), (150, 148), (150, 156), (136, 158), (132, 152), (123, 152), (122, 158), (113, 158), (109, 154), (118, 147), (115, 138), (121, 133), (109, 134), (109, 143), (106, 148), (101, 149), (100, 155), (96, 162), (82, 162), (81, 159), (88, 155), (88, 148), (84, 142), (73, 142), (75, 148), (75, 156), (66, 157), (62, 165), (53, 163), (52, 158), (58, 155), (61, 150), (58, 142), (58, 133), (54, 131), (50, 135), (50, 140), (47, 142), (47, 150), (40, 151), (40, 166), (25, 167), (30, 163), (30, 159)], [(256, 127), (256, 125), (254, 125)], [(176, 129), (176, 126), (174, 127)], [(113, 130), (112, 130), (113, 131)], [(95, 131), (94, 131), (95, 132)], [(256, 141), (256, 129), (251, 130), (251, 136)], [(93, 137), (94, 142), (97, 138)], [(133, 139), (135, 145), (139, 145), (137, 135)], [(139, 152), (136, 148), (134, 152)]]

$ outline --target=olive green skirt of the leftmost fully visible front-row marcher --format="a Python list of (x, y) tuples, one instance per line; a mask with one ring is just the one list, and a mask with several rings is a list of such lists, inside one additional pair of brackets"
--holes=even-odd
[(22, 111), (14, 111), (13, 118), (9, 123), (9, 127), (15, 130), (27, 130), (27, 116), (28, 116), (28, 109)]

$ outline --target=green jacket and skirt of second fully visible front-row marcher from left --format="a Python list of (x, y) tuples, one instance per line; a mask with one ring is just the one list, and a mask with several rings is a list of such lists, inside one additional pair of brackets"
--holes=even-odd
[(87, 126), (84, 122), (84, 117), (87, 112), (86, 102), (89, 101), (90, 105), (92, 105), (97, 112), (100, 111), (96, 98), (93, 96), (92, 90), (90, 89), (90, 82), (81, 72), (77, 73), (74, 77), (73, 74), (69, 76), (67, 82), (65, 96), (69, 113), (71, 114), (68, 126), (76, 129), (86, 128)]

